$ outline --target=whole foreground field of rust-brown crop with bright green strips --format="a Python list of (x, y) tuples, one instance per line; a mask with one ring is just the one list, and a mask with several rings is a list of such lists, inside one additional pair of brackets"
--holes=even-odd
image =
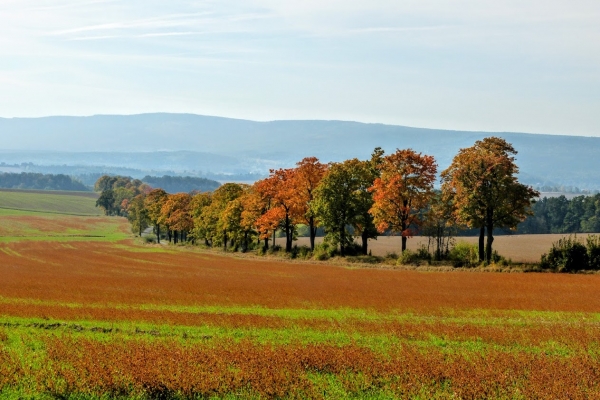
[(0, 215), (3, 398), (600, 398), (599, 275), (223, 255), (107, 217), (53, 240), (100, 222), (34, 214)]

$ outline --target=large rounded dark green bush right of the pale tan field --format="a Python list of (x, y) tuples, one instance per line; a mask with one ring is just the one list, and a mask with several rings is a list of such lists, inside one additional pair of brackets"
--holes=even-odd
[(540, 265), (557, 272), (577, 272), (589, 269), (590, 257), (583, 243), (569, 236), (553, 243), (548, 254), (542, 255)]

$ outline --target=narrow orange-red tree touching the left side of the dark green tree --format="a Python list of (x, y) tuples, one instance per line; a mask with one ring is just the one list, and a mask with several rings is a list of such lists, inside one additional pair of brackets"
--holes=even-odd
[(306, 157), (298, 162), (294, 173), (294, 186), (296, 188), (294, 200), (297, 201), (296, 210), (302, 222), (308, 225), (310, 232), (310, 249), (315, 249), (317, 236), (317, 219), (311, 203), (314, 201), (314, 191), (327, 172), (327, 164), (319, 162), (316, 157)]

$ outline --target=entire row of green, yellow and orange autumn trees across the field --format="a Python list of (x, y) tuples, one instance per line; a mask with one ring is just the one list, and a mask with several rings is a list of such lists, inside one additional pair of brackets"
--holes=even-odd
[(515, 229), (539, 195), (518, 182), (516, 153), (496, 137), (461, 149), (441, 173), (441, 191), (434, 190), (432, 156), (411, 149), (386, 155), (376, 148), (368, 160), (324, 164), (308, 157), (294, 168), (271, 170), (253, 185), (227, 183), (214, 192), (168, 194), (138, 180), (102, 177), (96, 183), (102, 192), (97, 205), (107, 214), (127, 216), (139, 234), (153, 226), (159, 242), (163, 230), (175, 243), (201, 241), (242, 251), (268, 249), (280, 231), (285, 251), (291, 252), (303, 224), (311, 250), (318, 227), (341, 256), (355, 238), (367, 254), (369, 239), (398, 234), (404, 251), (410, 237), (426, 231), (436, 239), (436, 256), (442, 257), (453, 229), (475, 228), (479, 258), (490, 262), (494, 229)]

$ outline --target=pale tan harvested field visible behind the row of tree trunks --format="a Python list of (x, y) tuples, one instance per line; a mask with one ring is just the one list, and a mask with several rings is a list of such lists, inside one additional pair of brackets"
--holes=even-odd
[[(505, 257), (510, 258), (515, 262), (535, 263), (539, 262), (542, 254), (547, 253), (552, 243), (569, 235), (552, 234), (552, 235), (506, 235), (494, 236), (494, 250)], [(577, 237), (585, 240), (587, 234), (580, 234)], [(380, 236), (377, 240), (369, 240), (369, 249), (375, 256), (385, 256), (389, 253), (400, 254), (402, 248), (402, 238), (399, 236)], [(283, 243), (284, 239), (278, 239)], [(316, 242), (321, 243), (323, 238), (317, 238)], [(477, 237), (457, 237), (457, 242), (467, 242), (476, 244), (479, 238)], [(294, 242), (298, 246), (309, 246), (310, 241), (307, 237), (298, 238)], [(408, 248), (417, 250), (421, 246), (427, 246), (427, 238), (413, 237), (408, 239)]]

